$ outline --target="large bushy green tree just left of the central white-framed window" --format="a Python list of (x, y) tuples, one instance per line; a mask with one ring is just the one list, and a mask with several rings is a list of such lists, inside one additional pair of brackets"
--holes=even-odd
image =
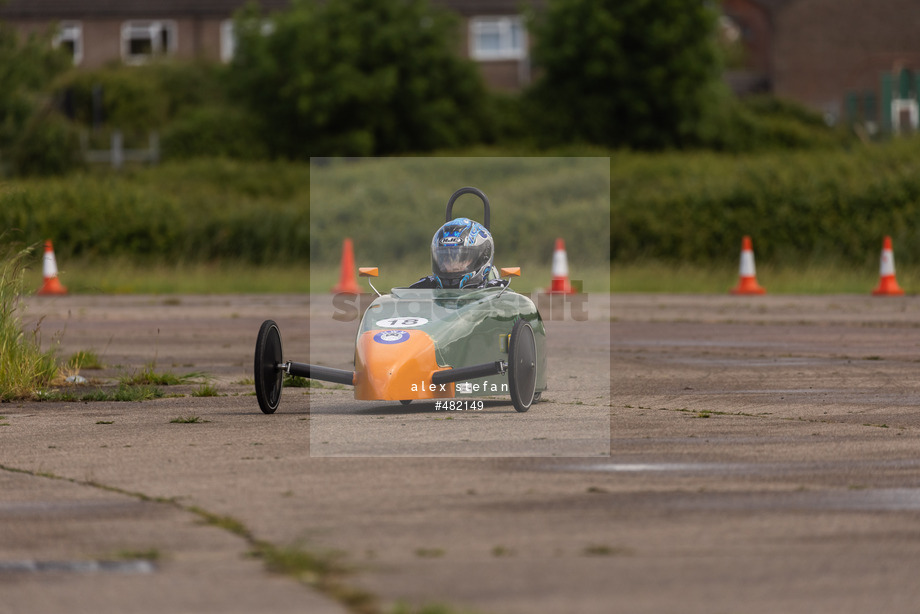
[[(268, 24), (268, 25), (266, 25)], [(294, 0), (236, 18), (229, 76), (276, 155), (373, 155), (475, 142), (485, 87), (428, 0)]]

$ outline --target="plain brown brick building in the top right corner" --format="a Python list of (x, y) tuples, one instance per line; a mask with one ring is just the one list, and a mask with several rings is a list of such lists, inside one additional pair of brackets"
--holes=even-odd
[[(736, 91), (770, 92), (830, 120), (848, 119), (857, 101), (863, 119), (883, 126), (891, 123), (892, 100), (917, 98), (918, 0), (723, 0), (722, 6), (747, 52), (744, 70), (729, 76)], [(896, 85), (883, 87), (889, 80), (906, 85), (892, 92)]]

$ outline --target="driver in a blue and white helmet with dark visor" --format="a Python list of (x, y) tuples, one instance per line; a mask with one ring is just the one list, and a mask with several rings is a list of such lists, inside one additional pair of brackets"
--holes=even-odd
[(485, 288), (505, 286), (492, 266), (495, 244), (485, 226), (458, 217), (441, 226), (431, 239), (432, 274), (410, 288)]

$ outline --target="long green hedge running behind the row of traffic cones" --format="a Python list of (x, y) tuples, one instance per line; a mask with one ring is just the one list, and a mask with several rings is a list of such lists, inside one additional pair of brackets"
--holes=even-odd
[[(501, 155), (477, 151), (483, 152)], [(878, 262), (884, 235), (894, 240), (898, 264), (920, 262), (920, 139), (746, 156), (566, 153), (611, 156), (614, 261), (733, 262), (747, 234), (754, 239), (758, 263), (863, 267)], [(366, 165), (369, 174), (362, 165), (334, 165), (331, 185), (340, 182), (351, 200), (323, 196), (315, 204), (314, 227), (323, 233), (313, 237), (314, 257), (336, 259), (340, 237), (355, 233), (356, 248), (372, 250), (380, 261), (424, 258), (457, 181), (426, 174), (413, 160), (425, 159), (382, 160)], [(585, 186), (584, 194), (573, 196), (566, 179), (574, 167), (547, 165), (535, 180), (516, 178), (514, 160), (451, 160), (457, 176), (484, 169), (483, 176), (499, 186), (487, 193), (495, 202), (493, 225), (501, 230), (506, 253), (542, 261), (540, 250), (550, 249), (544, 244), (558, 235), (572, 237), (567, 240), (570, 260), (591, 262), (606, 255), (592, 242), (596, 221), (591, 216), (597, 209), (586, 197), (598, 177), (580, 178), (576, 183)], [(422, 184), (409, 183), (420, 177)], [(406, 198), (386, 203), (385, 215), (375, 192), (383, 181), (413, 186), (400, 188)], [(512, 212), (502, 203), (527, 206)], [(429, 214), (429, 207), (436, 212)], [(20, 231), (5, 235), (5, 241), (54, 239), (59, 258), (306, 261), (309, 166), (210, 159), (121, 174), (94, 171), (0, 182), (0, 226)]]

